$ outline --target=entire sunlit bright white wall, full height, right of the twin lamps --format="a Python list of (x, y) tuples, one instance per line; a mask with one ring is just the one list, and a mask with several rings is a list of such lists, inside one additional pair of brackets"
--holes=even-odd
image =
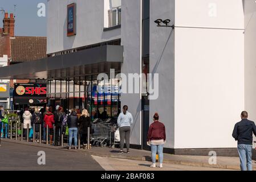
[[(209, 2), (217, 4), (215, 20)], [(174, 148), (236, 147), (231, 134), (245, 108), (243, 30), (214, 28), (243, 28), (242, 1), (176, 1), (176, 26), (208, 28), (175, 31)]]

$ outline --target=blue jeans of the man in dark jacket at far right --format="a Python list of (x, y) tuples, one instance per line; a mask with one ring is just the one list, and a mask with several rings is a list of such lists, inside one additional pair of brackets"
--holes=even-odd
[(238, 144), (238, 154), (240, 158), (241, 171), (253, 171), (253, 164), (251, 163), (251, 144)]

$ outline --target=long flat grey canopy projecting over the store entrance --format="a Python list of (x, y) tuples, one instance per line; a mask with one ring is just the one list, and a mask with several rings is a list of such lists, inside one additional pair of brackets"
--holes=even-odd
[(100, 46), (0, 68), (1, 79), (51, 79), (120, 72), (123, 46)]

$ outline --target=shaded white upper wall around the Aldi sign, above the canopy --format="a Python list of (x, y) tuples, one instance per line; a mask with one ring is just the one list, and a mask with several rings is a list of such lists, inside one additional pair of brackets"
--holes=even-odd
[[(67, 5), (76, 3), (76, 35), (67, 36)], [(104, 0), (50, 0), (47, 53), (120, 39), (121, 28), (103, 32)]]

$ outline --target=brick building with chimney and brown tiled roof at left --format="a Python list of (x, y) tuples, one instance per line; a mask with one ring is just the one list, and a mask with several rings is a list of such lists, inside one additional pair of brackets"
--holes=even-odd
[[(0, 28), (0, 67), (46, 57), (46, 37), (15, 36), (14, 32), (15, 16), (5, 13), (3, 28)], [(2, 82), (7, 84), (7, 88), (14, 88), (14, 83), (28, 83), (30, 80), (0, 80)], [(0, 96), (0, 104), (2, 101), (10, 108), (9, 98)]]

